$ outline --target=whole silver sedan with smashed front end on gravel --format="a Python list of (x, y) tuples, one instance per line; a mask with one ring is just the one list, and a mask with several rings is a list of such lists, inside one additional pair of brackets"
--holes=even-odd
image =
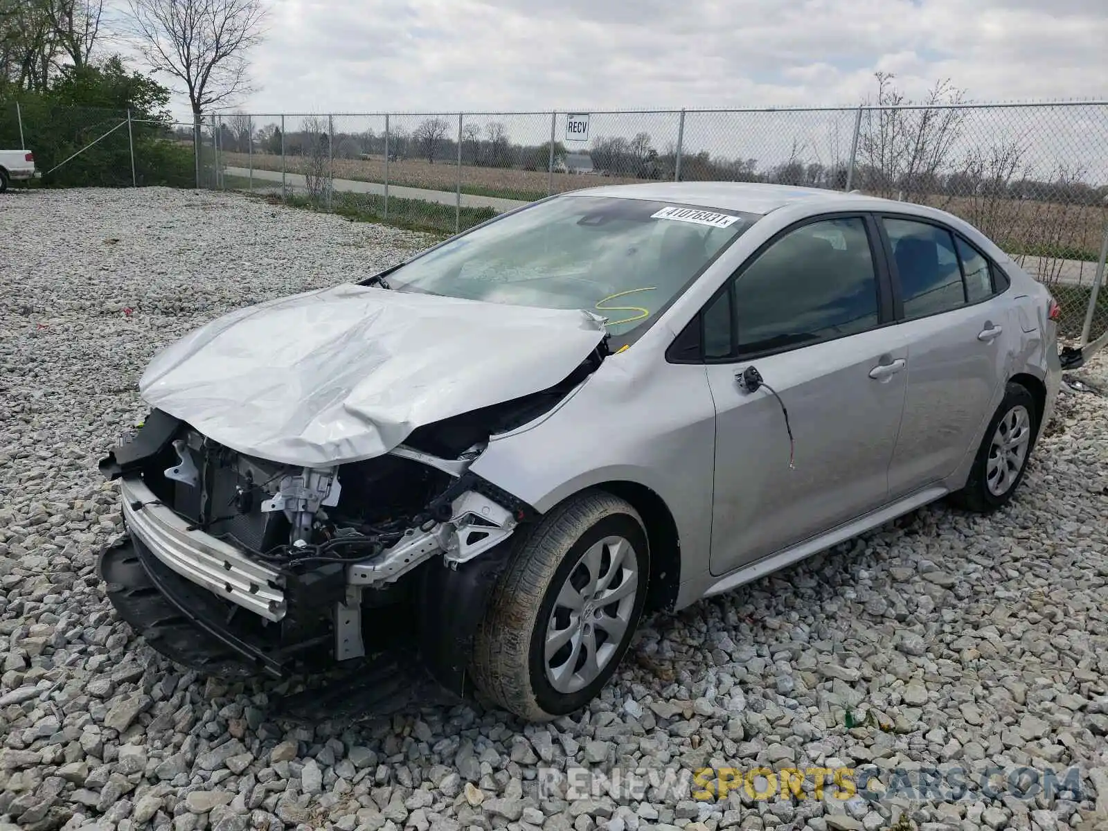
[(147, 581), (273, 675), (320, 638), (356, 666), (384, 608), (442, 686), (552, 718), (645, 613), (947, 495), (1003, 506), (1054, 409), (1057, 317), (919, 205), (563, 194), (158, 355), (151, 418), (102, 463), (130, 532), (102, 571), (136, 627), (119, 587)]

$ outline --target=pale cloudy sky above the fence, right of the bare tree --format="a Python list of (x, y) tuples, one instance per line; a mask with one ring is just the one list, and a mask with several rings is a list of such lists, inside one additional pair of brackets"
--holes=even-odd
[(253, 112), (1108, 95), (1105, 0), (271, 0)]

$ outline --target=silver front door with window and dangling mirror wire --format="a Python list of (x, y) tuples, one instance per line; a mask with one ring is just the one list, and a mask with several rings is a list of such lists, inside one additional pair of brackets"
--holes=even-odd
[[(728, 280), (702, 321), (716, 406), (712, 573), (882, 505), (906, 349), (873, 220), (792, 226)], [(750, 367), (766, 383), (752, 392), (739, 380)]]

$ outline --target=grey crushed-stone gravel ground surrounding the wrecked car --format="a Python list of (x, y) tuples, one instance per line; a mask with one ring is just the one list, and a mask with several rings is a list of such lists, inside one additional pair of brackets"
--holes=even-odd
[[(121, 530), (95, 464), (144, 412), (145, 362), (218, 312), (365, 276), (427, 242), (234, 195), (0, 199), (0, 830), (873, 831), (902, 812), (926, 831), (1108, 828), (1096, 394), (1063, 396), (1006, 510), (924, 509), (659, 616), (602, 698), (551, 725), (469, 708), (278, 724), (279, 686), (206, 681), (137, 640), (94, 573)], [(1077, 377), (1108, 390), (1104, 362)], [(640, 777), (620, 790), (613, 766)], [(792, 799), (698, 800), (691, 771), (706, 766), (849, 767), (858, 781), (875, 766), (865, 792), (884, 796), (829, 784), (815, 799), (810, 774)], [(976, 793), (903, 790), (935, 766)], [(572, 788), (550, 773), (571, 768)], [(605, 781), (586, 768), (607, 771), (608, 792), (583, 792)], [(1057, 788), (1034, 782), (1047, 769)]]

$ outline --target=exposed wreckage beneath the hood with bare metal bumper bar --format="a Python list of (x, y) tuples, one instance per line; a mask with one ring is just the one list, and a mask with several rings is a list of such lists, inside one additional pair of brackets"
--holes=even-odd
[(107, 594), (151, 646), (208, 674), (286, 677), (400, 638), (464, 693), (506, 546), (482, 555), (534, 513), (469, 468), (491, 431), (579, 380), (331, 468), (247, 455), (154, 409), (100, 464), (120, 481), (127, 532), (101, 556)]

